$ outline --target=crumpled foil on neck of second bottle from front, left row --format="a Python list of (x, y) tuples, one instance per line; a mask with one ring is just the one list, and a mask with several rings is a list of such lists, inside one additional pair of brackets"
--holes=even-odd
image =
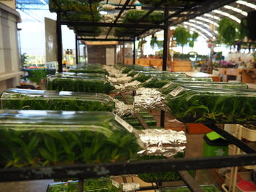
[(123, 101), (119, 101), (118, 99), (113, 99), (116, 102), (115, 110), (113, 111), (116, 115), (120, 117), (133, 115), (138, 110), (135, 110), (133, 105), (124, 104)]

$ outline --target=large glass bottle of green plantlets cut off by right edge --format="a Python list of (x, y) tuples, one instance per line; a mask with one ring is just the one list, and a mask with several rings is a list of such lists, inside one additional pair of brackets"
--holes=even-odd
[[(168, 94), (170, 112), (186, 123), (255, 123), (255, 91), (224, 88), (178, 87), (176, 96)], [(177, 90), (173, 90), (177, 91)]]

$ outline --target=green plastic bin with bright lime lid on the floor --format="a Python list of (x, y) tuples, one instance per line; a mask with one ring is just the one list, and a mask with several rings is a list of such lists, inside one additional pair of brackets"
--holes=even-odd
[(211, 157), (227, 155), (229, 142), (216, 132), (211, 131), (210, 133), (205, 134), (203, 140), (203, 156)]

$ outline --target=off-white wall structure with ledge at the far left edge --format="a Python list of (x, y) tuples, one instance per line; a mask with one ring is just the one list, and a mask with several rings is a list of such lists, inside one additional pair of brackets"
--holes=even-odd
[(18, 85), (18, 12), (0, 3), (0, 91)]

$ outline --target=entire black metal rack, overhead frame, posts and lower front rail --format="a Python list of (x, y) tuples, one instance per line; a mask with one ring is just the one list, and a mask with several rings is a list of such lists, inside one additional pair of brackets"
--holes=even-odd
[[(146, 14), (140, 18), (136, 23), (117, 23), (121, 13), (126, 9), (134, 9), (134, 6), (130, 6), (131, 0), (125, 1), (125, 4), (116, 7), (119, 10), (119, 14), (113, 23), (97, 23), (97, 22), (78, 22), (69, 20), (68, 12), (61, 10), (60, 5), (56, 0), (52, 0), (54, 4), (59, 8), (57, 11), (57, 44), (58, 44), (58, 62), (59, 72), (62, 72), (62, 37), (61, 37), (61, 25), (72, 26), (74, 29), (77, 26), (103, 26), (110, 27), (105, 38), (97, 37), (83, 37), (80, 33), (83, 31), (76, 31), (76, 46), (78, 47), (78, 41), (118, 41), (118, 42), (133, 42), (134, 44), (134, 55), (133, 63), (135, 64), (135, 38), (140, 37), (146, 31), (152, 28), (158, 28), (164, 30), (164, 50), (163, 50), (163, 62), (162, 70), (167, 68), (167, 33), (168, 29), (172, 25), (182, 23), (191, 18), (195, 18), (198, 15), (202, 15), (205, 12), (210, 12), (212, 9), (217, 9), (225, 4), (230, 4), (234, 0), (193, 0), (193, 5), (185, 7), (162, 7), (165, 1), (160, 1), (157, 6), (154, 7), (142, 7), (146, 9)], [(185, 0), (184, 0), (185, 1)], [(188, 1), (188, 0), (187, 0)], [(189, 2), (189, 1), (188, 1)], [(89, 0), (91, 5), (91, 0)], [(107, 1), (108, 4), (108, 1)], [(154, 10), (162, 10), (165, 12), (164, 20), (158, 23), (142, 24), (144, 19), (148, 17)], [(93, 12), (91, 9), (91, 15), (93, 18)], [(65, 17), (66, 20), (62, 20), (61, 16)], [(110, 37), (110, 31), (114, 27), (122, 28), (134, 28), (132, 30), (132, 37), (113, 38)], [(140, 29), (136, 31), (136, 28)], [(129, 30), (125, 31), (124, 34), (128, 34)], [(78, 62), (78, 50), (76, 50), (76, 61)], [(164, 122), (165, 113), (161, 112), (161, 125)], [(144, 128), (147, 126), (143, 123), (142, 118), (138, 116), (138, 120)], [(27, 167), (27, 168), (10, 168), (0, 169), (0, 181), (18, 181), (18, 180), (40, 180), (40, 179), (57, 179), (57, 178), (72, 178), (77, 177), (80, 179), (80, 191), (82, 191), (84, 178), (90, 177), (105, 177), (109, 175), (121, 175), (121, 174), (140, 174), (148, 172), (166, 172), (176, 171), (181, 175), (184, 183), (192, 191), (201, 191), (201, 189), (192, 181), (190, 177), (184, 172), (191, 169), (210, 169), (210, 168), (222, 168), (227, 166), (245, 166), (256, 164), (256, 150), (247, 146), (244, 142), (233, 135), (228, 134), (214, 124), (206, 124), (209, 128), (216, 131), (222, 137), (227, 139), (230, 144), (234, 144), (243, 150), (246, 155), (232, 155), (222, 157), (211, 157), (211, 158), (180, 158), (180, 159), (168, 159), (168, 160), (151, 160), (151, 161), (136, 161), (136, 162), (125, 162), (125, 163), (107, 163), (107, 164), (72, 164), (65, 166), (43, 166), (43, 167)]]

